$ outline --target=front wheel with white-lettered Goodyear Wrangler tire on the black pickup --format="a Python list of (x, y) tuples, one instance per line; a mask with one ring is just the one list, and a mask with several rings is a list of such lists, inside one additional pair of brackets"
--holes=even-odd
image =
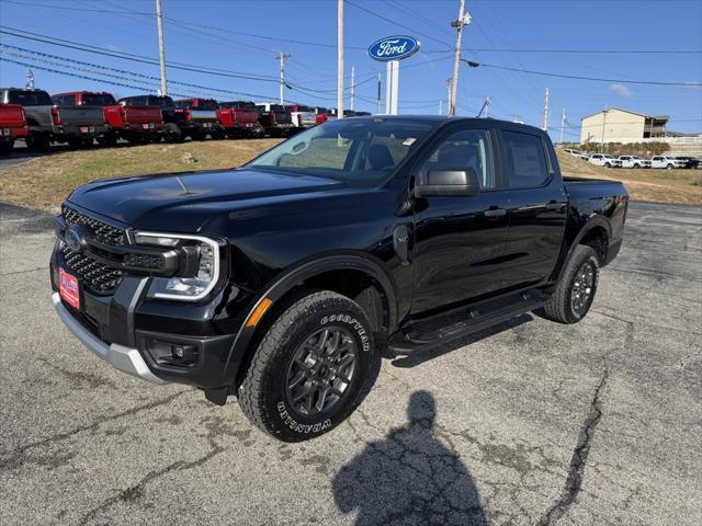
[(373, 352), (371, 324), (353, 300), (328, 290), (297, 296), (253, 355), (241, 411), (279, 441), (327, 433), (358, 405)]

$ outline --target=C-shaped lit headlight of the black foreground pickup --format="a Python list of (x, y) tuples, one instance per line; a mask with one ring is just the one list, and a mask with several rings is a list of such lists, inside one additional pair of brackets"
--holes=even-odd
[(219, 243), (213, 239), (184, 233), (136, 232), (135, 241), (137, 244), (182, 247), (194, 252), (197, 259), (189, 275), (154, 277), (148, 293), (150, 298), (196, 301), (210, 294), (219, 278)]

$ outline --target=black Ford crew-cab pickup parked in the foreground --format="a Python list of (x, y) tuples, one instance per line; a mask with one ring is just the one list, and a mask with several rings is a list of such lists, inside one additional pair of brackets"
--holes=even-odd
[(114, 367), (236, 395), (261, 430), (304, 441), (353, 411), (381, 354), (536, 309), (581, 320), (627, 203), (621, 183), (562, 178), (533, 127), (331, 121), (238, 169), (76, 190), (53, 300)]

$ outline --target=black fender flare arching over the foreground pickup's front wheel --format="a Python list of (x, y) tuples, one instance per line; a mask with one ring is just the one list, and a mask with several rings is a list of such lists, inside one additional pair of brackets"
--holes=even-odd
[(395, 284), (384, 270), (381, 262), (376, 262), (375, 258), (367, 254), (338, 254), (315, 258), (313, 261), (303, 262), (286, 271), (282, 276), (279, 276), (271, 282), (262, 294), (258, 295), (256, 302), (249, 310), (245, 321), (241, 323), (241, 328), (237, 332), (234, 343), (231, 344), (231, 348), (229, 350), (229, 355), (227, 356), (227, 362), (225, 364), (224, 378), (233, 380), (236, 375), (238, 375), (238, 369), (241, 366), (244, 357), (249, 351), (249, 343), (257, 330), (257, 325), (247, 327), (247, 322), (263, 300), (269, 299), (272, 301), (271, 306), (274, 306), (283, 296), (290, 293), (302, 282), (326, 272), (339, 270), (354, 270), (363, 272), (380, 284), (385, 297), (387, 298), (388, 324), (392, 331), (392, 328), (397, 324), (397, 298), (395, 294)]

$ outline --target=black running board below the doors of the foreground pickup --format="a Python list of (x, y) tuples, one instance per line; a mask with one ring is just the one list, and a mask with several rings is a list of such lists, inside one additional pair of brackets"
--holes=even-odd
[[(420, 351), (428, 351), (536, 310), (543, 307), (547, 299), (548, 296), (540, 290), (528, 290), (465, 308), (460, 313), (458, 321), (456, 321), (456, 313), (453, 313), (439, 319), (434, 317), (415, 322), (389, 338), (388, 350), (394, 356), (409, 356)], [(441, 319), (444, 321), (450, 319), (451, 322), (442, 325)]]

